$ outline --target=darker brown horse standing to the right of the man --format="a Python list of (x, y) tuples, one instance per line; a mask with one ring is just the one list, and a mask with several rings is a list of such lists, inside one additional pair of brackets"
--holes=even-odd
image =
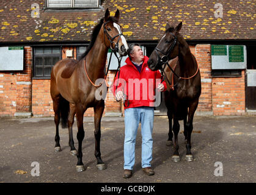
[[(173, 131), (174, 155), (172, 155), (172, 161), (180, 161), (178, 153), (179, 120), (183, 120), (184, 124), (186, 161), (192, 161), (191, 133), (194, 113), (201, 94), (201, 77), (196, 58), (191, 53), (188, 43), (179, 33), (181, 26), (182, 23), (175, 28), (170, 27), (168, 23), (166, 24), (163, 37), (148, 59), (148, 67), (152, 71), (162, 69), (166, 73), (167, 90), (164, 92), (164, 100), (169, 119), (169, 133), (166, 144), (167, 146), (172, 144)], [(172, 60), (170, 61), (172, 67), (168, 63), (169, 60)], [(174, 120), (173, 127), (172, 119)]]

